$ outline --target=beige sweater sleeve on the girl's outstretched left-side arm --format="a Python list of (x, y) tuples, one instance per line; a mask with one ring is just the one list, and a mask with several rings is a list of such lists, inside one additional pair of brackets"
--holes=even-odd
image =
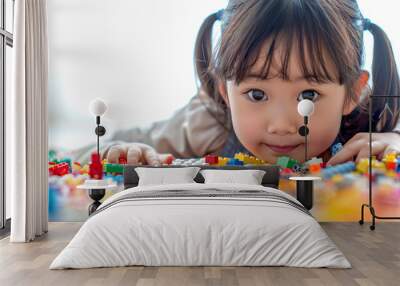
[[(154, 122), (147, 128), (116, 131), (111, 139), (100, 142), (101, 153), (107, 154), (111, 146), (126, 142), (145, 143), (159, 153), (171, 153), (176, 158), (203, 157), (218, 152), (224, 147), (229, 132), (212, 114), (224, 122), (224, 111), (200, 92), (167, 120)], [(90, 144), (69, 155), (72, 160), (87, 163), (95, 148), (96, 144)]]

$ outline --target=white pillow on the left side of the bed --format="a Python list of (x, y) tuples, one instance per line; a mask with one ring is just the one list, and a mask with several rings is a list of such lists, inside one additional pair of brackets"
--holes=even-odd
[(139, 186), (195, 183), (199, 167), (184, 168), (135, 168)]

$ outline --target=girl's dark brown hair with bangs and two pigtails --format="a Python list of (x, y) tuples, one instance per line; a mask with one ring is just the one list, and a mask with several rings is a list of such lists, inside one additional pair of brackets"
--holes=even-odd
[[(279, 71), (282, 79), (288, 79), (290, 55), (297, 49), (306, 79), (343, 84), (347, 93), (345, 104), (358, 100), (354, 86), (364, 61), (364, 30), (374, 37), (372, 94), (400, 95), (390, 41), (378, 25), (363, 18), (356, 0), (230, 0), (221, 19), (222, 34), (213, 50), (213, 27), (220, 16), (217, 12), (204, 20), (196, 40), (194, 61), (200, 89), (225, 110), (218, 82), (240, 83), (260, 52), (265, 54), (265, 61), (259, 76), (268, 78), (277, 45), (284, 51)], [(328, 67), (329, 63), (333, 63), (334, 69)], [(368, 131), (368, 102), (368, 97), (364, 97), (351, 114), (343, 116), (343, 142), (355, 133)], [(399, 103), (400, 99), (394, 97), (374, 100), (374, 131), (393, 130), (399, 117)]]

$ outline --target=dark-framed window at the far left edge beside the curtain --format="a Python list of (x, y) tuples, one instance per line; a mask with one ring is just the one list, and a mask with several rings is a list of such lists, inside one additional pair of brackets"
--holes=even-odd
[(14, 0), (0, 0), (0, 236), (9, 231), (9, 194), (5, 188), (5, 105), (11, 92)]

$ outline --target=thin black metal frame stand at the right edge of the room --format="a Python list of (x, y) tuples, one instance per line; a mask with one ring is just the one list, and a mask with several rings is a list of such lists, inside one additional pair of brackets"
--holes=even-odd
[(368, 183), (369, 183), (369, 190), (368, 190), (368, 194), (369, 194), (369, 202), (368, 204), (363, 204), (361, 206), (361, 219), (359, 221), (359, 223), (362, 225), (364, 224), (364, 208), (367, 207), (369, 208), (369, 211), (372, 215), (372, 225), (370, 225), (370, 229), (374, 230), (375, 229), (375, 219), (400, 219), (400, 217), (383, 217), (383, 216), (378, 216), (375, 213), (375, 209), (372, 205), (372, 102), (374, 98), (400, 98), (400, 96), (393, 96), (393, 95), (370, 95), (369, 96), (369, 174), (368, 174)]

